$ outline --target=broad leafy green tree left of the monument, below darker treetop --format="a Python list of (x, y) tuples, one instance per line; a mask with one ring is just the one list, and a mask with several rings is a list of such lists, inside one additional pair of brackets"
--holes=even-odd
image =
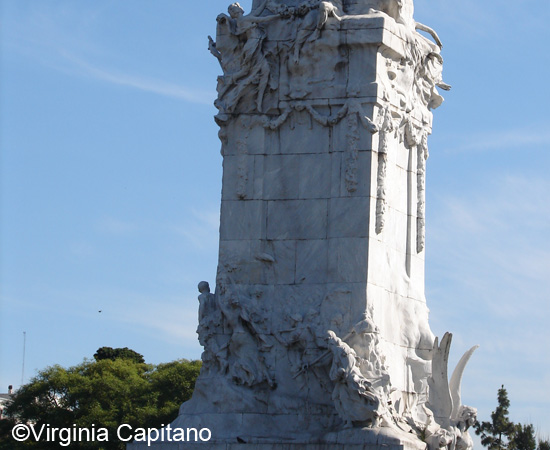
[[(124, 449), (117, 441), (121, 424), (132, 428), (160, 428), (177, 417), (191, 397), (200, 361), (178, 360), (153, 366), (135, 358), (85, 360), (65, 369), (48, 367), (22, 386), (0, 421), (0, 449), (62, 448), (57, 443), (11, 439), (16, 423), (57, 428), (106, 428), (109, 442), (73, 442), (72, 449)], [(66, 448), (66, 447), (64, 447)]]

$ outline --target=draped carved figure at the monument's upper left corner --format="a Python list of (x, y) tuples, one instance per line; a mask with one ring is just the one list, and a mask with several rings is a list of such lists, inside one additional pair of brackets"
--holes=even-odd
[[(265, 0), (258, 8), (248, 15), (244, 15), (244, 9), (239, 3), (229, 5), (225, 14), (218, 16), (218, 23), (227, 24), (229, 33), (237, 39), (233, 43), (233, 54), (229, 51), (222, 52), (216, 43), (210, 42), (209, 48), (212, 54), (219, 59), (224, 75), (222, 86), (219, 88), (217, 106), (225, 112), (232, 112), (238, 101), (250, 85), (257, 86), (256, 106), (262, 111), (262, 102), (269, 82), (269, 63), (263, 53), (263, 41), (266, 37), (265, 30), (261, 27), (280, 17), (279, 14), (260, 16), (266, 7)], [(224, 61), (227, 59), (226, 61)], [(235, 64), (238, 60), (238, 64)], [(231, 67), (230, 67), (231, 66)], [(235, 67), (238, 67), (235, 69)], [(234, 71), (233, 71), (234, 69)], [(223, 97), (227, 97), (225, 101)]]

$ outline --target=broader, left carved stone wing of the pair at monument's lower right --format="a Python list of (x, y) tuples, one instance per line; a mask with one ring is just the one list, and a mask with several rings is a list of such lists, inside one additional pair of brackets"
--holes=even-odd
[(453, 335), (445, 333), (438, 345), (438, 338), (435, 338), (432, 358), (432, 375), (428, 378), (429, 397), (428, 406), (434, 413), (435, 421), (442, 427), (449, 424), (453, 411), (453, 400), (449, 391), (449, 378), (447, 365), (449, 361), (449, 350)]

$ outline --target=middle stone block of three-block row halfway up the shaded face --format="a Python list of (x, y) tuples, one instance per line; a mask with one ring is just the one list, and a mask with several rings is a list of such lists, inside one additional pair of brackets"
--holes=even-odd
[(323, 239), (328, 200), (274, 200), (267, 207), (267, 239)]

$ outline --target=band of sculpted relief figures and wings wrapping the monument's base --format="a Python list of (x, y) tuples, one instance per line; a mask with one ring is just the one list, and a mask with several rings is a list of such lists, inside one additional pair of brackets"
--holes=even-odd
[[(204, 281), (199, 283), (199, 291), (197, 332), (204, 346), (203, 372), (218, 374), (252, 392), (269, 389), (284, 395), (289, 383), (316, 389), (331, 399), (343, 428), (386, 427), (424, 433), (430, 450), (472, 448), (468, 429), (477, 412), (461, 404), (460, 384), (476, 347), (463, 356), (448, 380), (451, 335), (447, 333), (441, 344), (435, 340), (431, 367), (417, 380), (429, 386), (427, 403), (417, 401), (414, 411), (410, 405), (403, 407), (406, 398), (396, 397), (379, 330), (370, 313), (364, 313), (340, 338), (330, 329), (325, 331), (315, 309), (303, 315), (284, 314), (278, 325), (270, 327), (261, 302), (255, 304), (262, 293), (247, 295), (229, 278), (216, 294), (210, 293)], [(331, 323), (342, 329), (341, 317), (335, 316)], [(280, 357), (286, 363), (277, 362)], [(287, 403), (285, 408), (288, 412), (292, 407)]]

